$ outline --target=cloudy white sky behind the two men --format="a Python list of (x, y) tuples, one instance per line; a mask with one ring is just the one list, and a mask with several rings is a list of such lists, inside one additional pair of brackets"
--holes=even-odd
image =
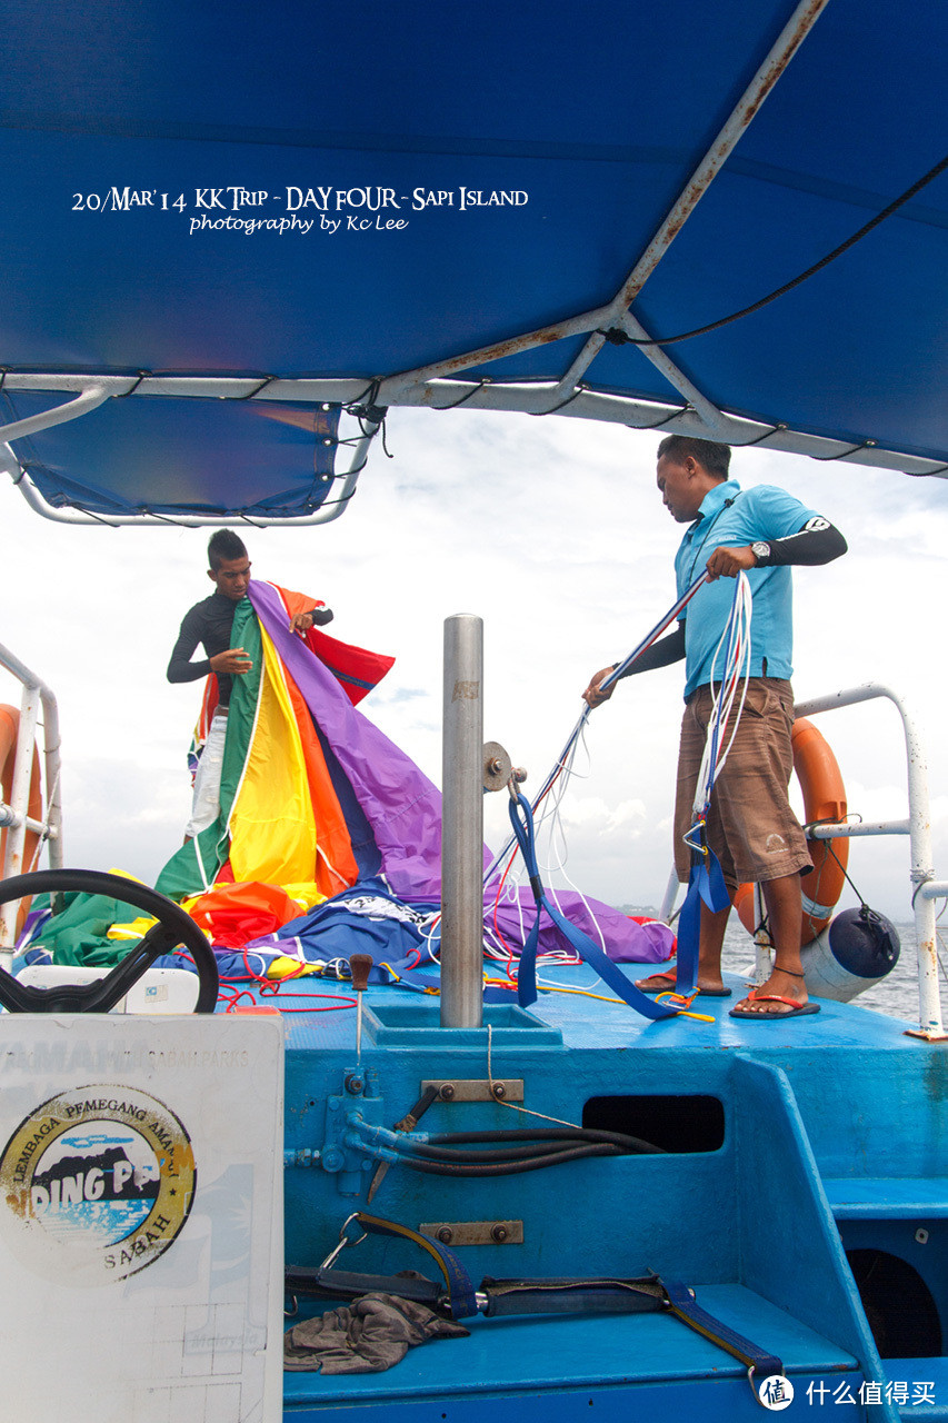
[[(682, 528), (655, 487), (656, 444), (653, 433), (557, 416), (393, 410), (393, 457), (376, 441), (340, 519), (246, 532), (253, 573), (325, 599), (335, 636), (394, 655), (362, 710), (437, 784), (444, 619), (483, 618), (484, 736), (527, 767), (530, 791), (572, 730), (589, 675), (675, 601)], [(927, 750), (934, 868), (948, 878), (948, 484), (760, 447), (734, 453), (732, 477), (784, 487), (846, 535), (843, 559), (794, 571), (794, 693), (803, 702), (874, 682), (904, 697)], [(65, 864), (154, 882), (189, 808), (201, 683), (171, 686), (165, 667), (181, 618), (211, 592), (211, 531), (67, 528), (13, 485), (0, 485), (0, 642), (60, 707)], [(635, 677), (591, 716), (561, 804), (557, 882), (609, 904), (660, 905), (682, 684), (682, 665)], [(0, 672), (0, 700), (19, 697)], [(817, 724), (850, 811), (907, 815), (897, 709), (871, 702)], [(508, 830), (504, 801), (485, 797), (494, 850)], [(850, 872), (874, 908), (911, 918), (905, 837), (854, 841)], [(857, 902), (844, 891), (841, 904)]]

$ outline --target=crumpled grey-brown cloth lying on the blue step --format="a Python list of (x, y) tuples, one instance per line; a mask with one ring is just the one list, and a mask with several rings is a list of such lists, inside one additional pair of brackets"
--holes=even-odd
[(285, 1369), (323, 1373), (381, 1373), (428, 1339), (458, 1339), (464, 1325), (397, 1295), (372, 1294), (352, 1305), (305, 1319), (283, 1335)]

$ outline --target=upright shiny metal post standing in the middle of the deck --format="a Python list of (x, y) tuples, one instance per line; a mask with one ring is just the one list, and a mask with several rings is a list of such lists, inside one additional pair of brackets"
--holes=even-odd
[(484, 1020), (484, 623), (444, 620), (441, 1027)]

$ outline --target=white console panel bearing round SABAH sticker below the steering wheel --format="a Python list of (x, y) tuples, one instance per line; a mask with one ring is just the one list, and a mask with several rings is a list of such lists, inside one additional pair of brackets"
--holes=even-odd
[(30, 1423), (278, 1423), (279, 1016), (0, 1017), (0, 1377)]

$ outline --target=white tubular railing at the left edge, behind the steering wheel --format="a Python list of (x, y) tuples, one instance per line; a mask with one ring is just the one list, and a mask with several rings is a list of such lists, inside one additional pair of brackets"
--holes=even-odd
[[(20, 700), (20, 730), (13, 763), (10, 804), (0, 803), (0, 825), (6, 827), (7, 842), (3, 855), (3, 878), (23, 874), (34, 865), (23, 864), (27, 831), (40, 835), (50, 855), (50, 868), (63, 865), (63, 800), (60, 791), (60, 714), (50, 687), (34, 672), (0, 646), (0, 667), (6, 667), (23, 684)], [(46, 770), (46, 815), (41, 821), (28, 814), (33, 747), (43, 712), (43, 750)], [(17, 904), (0, 906), (0, 968), (13, 961)]]

